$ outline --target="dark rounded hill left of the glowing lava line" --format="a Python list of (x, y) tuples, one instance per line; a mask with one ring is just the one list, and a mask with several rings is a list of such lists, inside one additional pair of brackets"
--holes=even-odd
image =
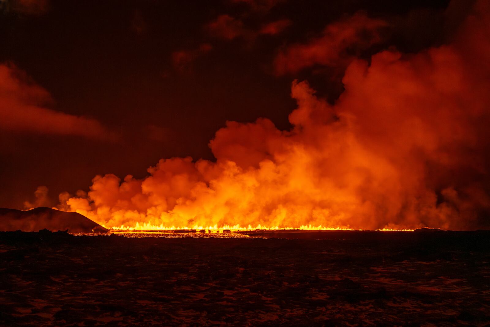
[(0, 230), (38, 231), (67, 230), (71, 233), (91, 233), (108, 231), (96, 222), (76, 212), (65, 212), (47, 207), (27, 211), (0, 208)]

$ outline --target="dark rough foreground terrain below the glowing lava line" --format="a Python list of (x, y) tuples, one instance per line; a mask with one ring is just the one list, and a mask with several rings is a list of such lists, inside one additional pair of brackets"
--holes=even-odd
[(490, 323), (488, 232), (298, 235), (0, 232), (0, 325)]

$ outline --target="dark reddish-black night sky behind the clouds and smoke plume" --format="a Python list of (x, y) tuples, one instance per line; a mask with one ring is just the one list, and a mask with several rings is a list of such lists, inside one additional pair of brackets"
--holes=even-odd
[[(208, 143), (226, 121), (267, 117), (288, 129), (294, 79), (334, 101), (349, 51), (417, 52), (444, 42), (458, 22), (446, 0), (34, 2), (0, 1), (0, 63), (44, 88), (49, 110), (91, 118), (107, 133), (0, 124), (0, 207), (23, 208), (40, 185), (54, 205), (97, 174), (141, 178), (160, 158), (213, 159)], [(359, 11), (390, 23), (380, 40), (347, 47), (332, 65), (274, 68), (279, 52)], [(213, 25), (220, 17), (227, 29)], [(274, 22), (282, 23), (267, 32)]]

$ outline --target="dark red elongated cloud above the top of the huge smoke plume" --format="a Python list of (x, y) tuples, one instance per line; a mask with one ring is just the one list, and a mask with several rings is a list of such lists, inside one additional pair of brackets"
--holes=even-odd
[(295, 73), (316, 64), (345, 67), (356, 52), (382, 40), (380, 29), (385, 26), (384, 21), (370, 19), (364, 13), (327, 25), (321, 36), (279, 52), (274, 60), (275, 72)]

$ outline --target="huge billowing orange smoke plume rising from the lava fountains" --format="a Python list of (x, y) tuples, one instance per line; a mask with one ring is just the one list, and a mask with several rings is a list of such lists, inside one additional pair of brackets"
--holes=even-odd
[(354, 60), (333, 105), (294, 81), (291, 130), (227, 122), (210, 142), (216, 162), (96, 176), (63, 204), (106, 227), (488, 226), (490, 5), (477, 9), (450, 45)]

